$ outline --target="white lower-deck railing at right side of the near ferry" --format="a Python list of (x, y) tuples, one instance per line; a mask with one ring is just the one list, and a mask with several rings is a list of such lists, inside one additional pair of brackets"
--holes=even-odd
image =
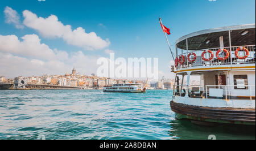
[[(253, 100), (253, 97), (255, 98), (255, 85), (205, 85), (205, 96), (208, 98), (209, 90), (208, 88), (214, 88), (223, 91), (222, 94), (225, 93), (225, 99), (232, 99), (232, 97), (237, 97), (239, 94), (237, 94), (237, 90), (240, 90), (241, 97), (250, 97), (250, 100)], [(237, 89), (235, 89), (237, 88)], [(254, 88), (254, 89), (253, 89)], [(216, 91), (217, 92), (217, 91)], [(235, 94), (236, 93), (236, 94)], [(245, 96), (246, 95), (246, 96)], [(228, 97), (229, 96), (229, 97)], [(219, 96), (221, 97), (221, 96)], [(223, 97), (223, 95), (222, 95)]]

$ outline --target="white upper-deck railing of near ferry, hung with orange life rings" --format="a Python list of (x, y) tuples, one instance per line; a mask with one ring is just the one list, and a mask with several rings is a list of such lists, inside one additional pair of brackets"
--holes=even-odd
[[(238, 48), (246, 48), (247, 50), (249, 50), (249, 56), (246, 59), (238, 59), (236, 58), (235, 52)], [(255, 63), (255, 45), (247, 45), (247, 46), (232, 46), (232, 47), (225, 47), (223, 49), (226, 49), (229, 51), (230, 53), (230, 49), (231, 49), (231, 54), (228, 59), (226, 59), (225, 61), (220, 61), (219, 59), (217, 59), (216, 57), (216, 53), (218, 50), (220, 50), (221, 48), (212, 48), (212, 49), (204, 49), (204, 50), (195, 50), (195, 51), (191, 51), (188, 50), (186, 53), (180, 54), (177, 56), (177, 58), (179, 58), (181, 55), (184, 56), (184, 63), (183, 64), (179, 64), (177, 66), (177, 69), (179, 68), (188, 68), (188, 67), (196, 67), (196, 66), (214, 66), (214, 65), (226, 65), (226, 64), (244, 64), (244, 63)], [(203, 58), (201, 57), (201, 55), (203, 54), (203, 52), (205, 50), (210, 50), (213, 52), (213, 58), (210, 61), (204, 61)], [(186, 51), (186, 50), (185, 50)], [(192, 53), (196, 54), (196, 61), (193, 63), (189, 63), (188, 62), (188, 54), (191, 53), (190, 55), (190, 59), (191, 61), (193, 60), (193, 55)], [(238, 55), (240, 56), (244, 56), (245, 52), (244, 51), (239, 51)], [(224, 56), (224, 53), (220, 53), (219, 54), (220, 57)], [(210, 54), (209, 53), (205, 53), (204, 55), (205, 58), (210, 58)]]

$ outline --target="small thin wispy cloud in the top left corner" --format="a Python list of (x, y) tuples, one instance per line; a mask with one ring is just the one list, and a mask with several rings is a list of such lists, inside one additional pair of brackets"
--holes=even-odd
[(14, 24), (16, 28), (23, 29), (24, 25), (20, 23), (20, 16), (18, 12), (13, 10), (11, 7), (6, 6), (5, 10), (3, 11), (5, 13), (5, 22), (9, 24)]

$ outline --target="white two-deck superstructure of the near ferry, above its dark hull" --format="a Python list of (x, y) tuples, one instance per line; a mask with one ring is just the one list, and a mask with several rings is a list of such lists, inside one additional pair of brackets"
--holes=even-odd
[[(229, 107), (255, 109), (255, 24), (187, 34), (176, 41), (175, 63), (174, 101), (205, 99), (210, 107), (213, 98), (227, 107), (227, 100), (243, 100)], [(192, 76), (200, 76), (200, 85), (191, 83)]]

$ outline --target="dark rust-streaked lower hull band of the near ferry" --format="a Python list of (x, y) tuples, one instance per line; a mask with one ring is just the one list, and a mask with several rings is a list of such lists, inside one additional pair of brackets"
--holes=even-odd
[[(197, 120), (214, 119), (226, 120), (230, 123), (249, 122), (255, 123), (255, 109), (232, 109), (184, 105), (170, 102), (171, 109), (175, 113), (187, 115)], [(202, 119), (201, 119), (202, 118)]]

